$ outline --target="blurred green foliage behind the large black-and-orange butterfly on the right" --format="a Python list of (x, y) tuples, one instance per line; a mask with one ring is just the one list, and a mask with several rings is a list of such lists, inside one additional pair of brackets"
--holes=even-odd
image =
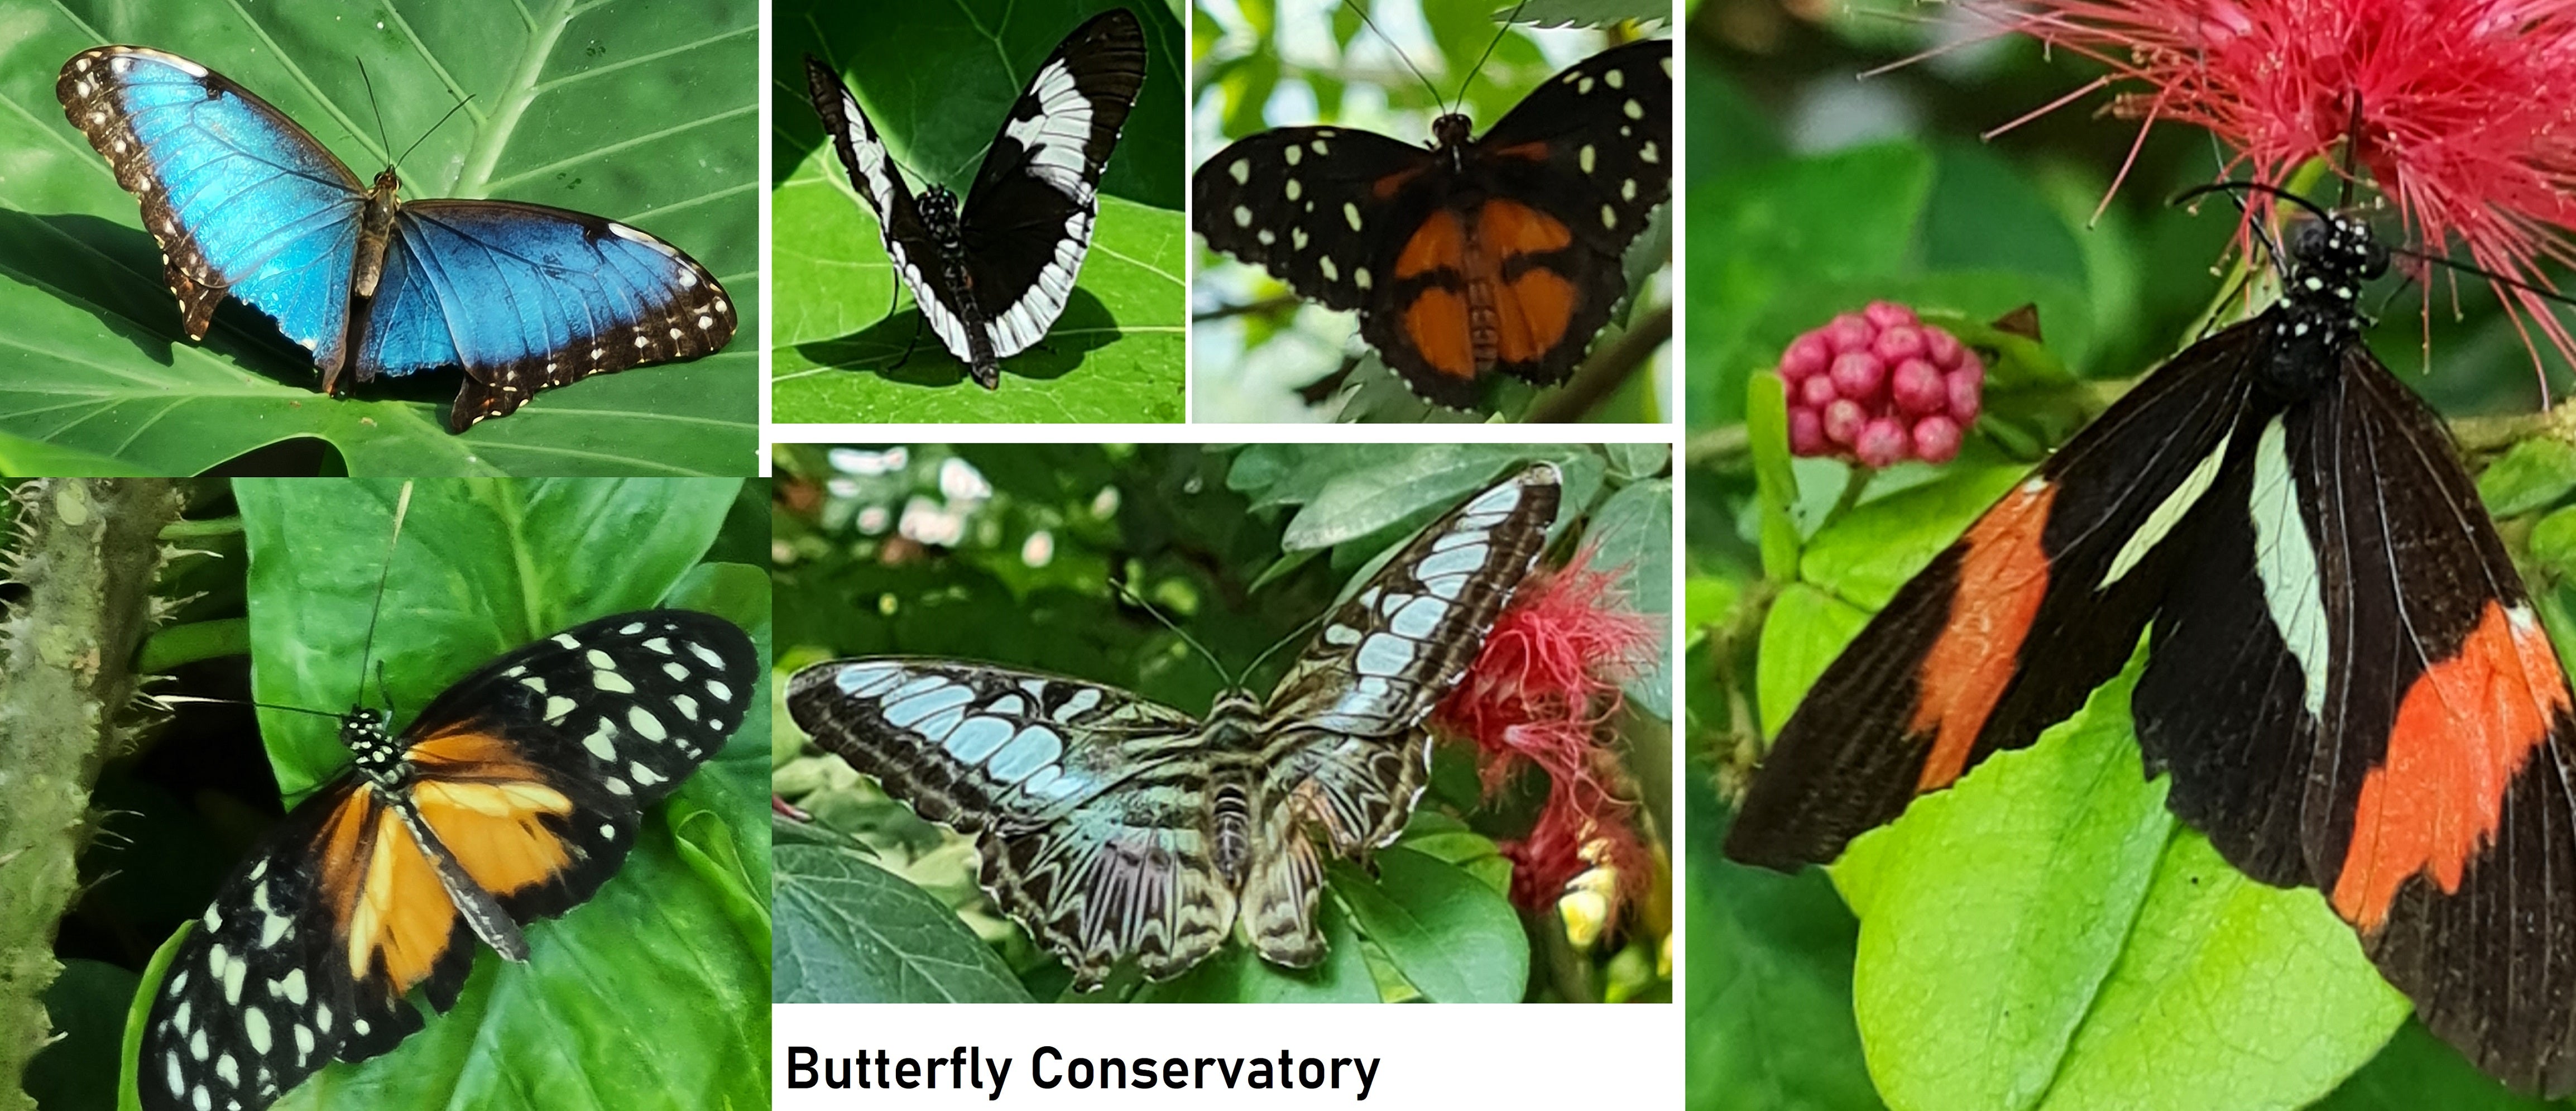
[[(2159, 124), (2105, 206), (2138, 142), (2107, 93), (1986, 137), (2102, 70), (1994, 39), (1991, 15), (1963, 5), (1703, 0), (1682, 39), (1690, 1098), (1873, 1108), (1852, 1010), (1860, 925), (1824, 871), (1780, 876), (1723, 858), (1728, 791), (1899, 583), (2128, 382), (2192, 343), (2208, 312), (2236, 312), (2241, 302), (2223, 299), (2233, 209), (2169, 206), (2218, 180), (2228, 155), (2205, 131)], [(2334, 201), (2331, 186), (2318, 191)], [(2393, 214), (2378, 224), (2396, 235)], [(2494, 296), (2468, 281), (2452, 291), (2447, 278), (2434, 291), (2427, 312), (2421, 286), (2372, 286), (2365, 304), (2383, 317), (2372, 348), (2455, 418), (2566, 655), (2576, 449), (2524, 438), (2532, 423), (2517, 415), (2540, 405), (2543, 387)], [(1855, 474), (1788, 459), (1777, 384), (1762, 379), (1767, 410), (1747, 405), (1793, 335), (1870, 299), (1960, 325), (2038, 309), (2040, 345), (2004, 358), (1989, 348), (1986, 418), (1950, 467)], [(2540, 371), (2550, 394), (2566, 389), (2563, 358), (2540, 356)], [(1873, 1054), (1886, 1052), (1901, 1049), (1873, 1039)], [(2130, 1096), (2156, 1106), (2151, 1088)], [(2318, 1106), (2522, 1101), (2409, 1021)]]

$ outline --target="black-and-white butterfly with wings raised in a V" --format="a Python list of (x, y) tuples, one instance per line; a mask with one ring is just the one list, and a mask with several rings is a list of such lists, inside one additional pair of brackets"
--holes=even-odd
[(858, 98), (806, 54), (814, 111), (876, 214), (886, 258), (979, 387), (997, 389), (1002, 358), (1046, 338), (1074, 296), (1100, 170), (1144, 88), (1144, 64), (1136, 13), (1110, 8), (1077, 26), (1028, 77), (958, 204), (948, 186), (914, 201)]

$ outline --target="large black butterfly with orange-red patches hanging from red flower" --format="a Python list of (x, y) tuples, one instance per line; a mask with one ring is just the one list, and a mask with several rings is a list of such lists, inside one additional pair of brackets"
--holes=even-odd
[(2486, 1072), (2576, 1083), (2576, 711), (2439, 418), (2318, 211), (2282, 299), (2174, 356), (1932, 559), (1780, 729), (1726, 853), (1793, 869), (2066, 719), (2151, 629), (2148, 776), (2316, 887)]

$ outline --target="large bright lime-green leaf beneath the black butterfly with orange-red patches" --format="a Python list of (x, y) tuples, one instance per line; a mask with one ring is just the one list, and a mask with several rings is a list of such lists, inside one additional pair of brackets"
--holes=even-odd
[(1893, 1106), (2298, 1106), (2403, 1018), (2313, 889), (2254, 884), (2179, 830), (2138, 763), (2136, 673), (1834, 864)]

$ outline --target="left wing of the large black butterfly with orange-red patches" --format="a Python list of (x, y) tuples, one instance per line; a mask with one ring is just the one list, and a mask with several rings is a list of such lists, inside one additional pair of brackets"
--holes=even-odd
[(2210, 487), (2246, 472), (2264, 327), (2151, 374), (1906, 580), (1780, 727), (1726, 856), (1832, 861), (2115, 675), (2218, 503)]

